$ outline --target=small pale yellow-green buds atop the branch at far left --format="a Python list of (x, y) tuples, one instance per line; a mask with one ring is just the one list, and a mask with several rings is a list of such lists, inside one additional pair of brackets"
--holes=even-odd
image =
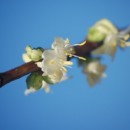
[(26, 47), (26, 53), (23, 54), (24, 62), (39, 61), (42, 57), (41, 49), (32, 49), (30, 46)]

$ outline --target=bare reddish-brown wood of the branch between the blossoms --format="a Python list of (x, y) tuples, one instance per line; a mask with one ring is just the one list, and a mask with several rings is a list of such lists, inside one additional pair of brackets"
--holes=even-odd
[[(86, 41), (83, 46), (75, 46), (75, 55), (85, 56), (89, 54), (92, 50), (99, 47), (102, 43), (92, 43), (90, 41)], [(19, 79), (31, 72), (38, 71), (40, 68), (37, 67), (35, 62), (25, 63), (19, 67), (11, 69), (9, 71), (0, 73), (0, 87), (3, 87), (7, 83)]]

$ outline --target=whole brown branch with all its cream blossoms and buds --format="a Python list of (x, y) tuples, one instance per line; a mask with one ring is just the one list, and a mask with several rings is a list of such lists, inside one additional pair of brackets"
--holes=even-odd
[(101, 54), (114, 58), (117, 47), (130, 46), (129, 39), (130, 27), (119, 31), (109, 20), (102, 19), (89, 29), (87, 40), (79, 44), (71, 45), (69, 39), (56, 38), (51, 49), (27, 46), (22, 56), (26, 63), (0, 73), (0, 87), (30, 74), (26, 79), (25, 95), (41, 88), (50, 92), (50, 85), (68, 78), (67, 67), (73, 64), (70, 61), (73, 57), (78, 58), (89, 85), (94, 86), (106, 77), (106, 65), (100, 62)]

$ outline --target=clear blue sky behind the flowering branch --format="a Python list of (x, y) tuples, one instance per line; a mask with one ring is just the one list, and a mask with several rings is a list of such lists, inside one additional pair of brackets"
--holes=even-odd
[[(0, 0), (0, 72), (23, 64), (27, 44), (50, 48), (54, 38), (82, 41), (96, 21), (130, 24), (129, 0)], [(107, 75), (90, 88), (75, 62), (73, 78), (25, 96), (25, 79), (0, 89), (0, 130), (130, 130), (130, 49), (105, 57)]]

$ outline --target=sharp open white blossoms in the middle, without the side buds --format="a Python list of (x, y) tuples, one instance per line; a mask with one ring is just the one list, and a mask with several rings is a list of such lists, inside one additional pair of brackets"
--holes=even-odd
[(68, 40), (64, 41), (62, 38), (55, 39), (52, 49), (43, 52), (43, 61), (36, 63), (43, 71), (44, 81), (42, 88), (46, 92), (50, 91), (49, 84), (55, 84), (67, 79), (66, 67), (73, 64), (71, 61), (67, 61), (67, 54), (70, 53), (71, 48), (68, 46)]

